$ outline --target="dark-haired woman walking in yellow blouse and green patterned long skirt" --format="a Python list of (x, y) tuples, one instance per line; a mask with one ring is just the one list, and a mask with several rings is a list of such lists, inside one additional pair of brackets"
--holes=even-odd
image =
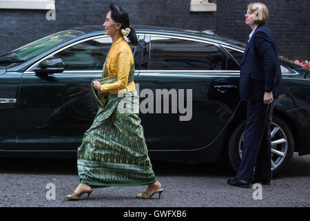
[(103, 76), (92, 82), (99, 106), (92, 126), (85, 132), (78, 148), (79, 186), (66, 200), (78, 200), (93, 188), (107, 186), (148, 185), (137, 198), (159, 198), (163, 189), (156, 180), (147, 155), (147, 146), (139, 113), (139, 99), (134, 86), (134, 57), (123, 36), (130, 44), (138, 43), (130, 26), (127, 11), (110, 5), (105, 23), (105, 35), (112, 46), (103, 65)]

